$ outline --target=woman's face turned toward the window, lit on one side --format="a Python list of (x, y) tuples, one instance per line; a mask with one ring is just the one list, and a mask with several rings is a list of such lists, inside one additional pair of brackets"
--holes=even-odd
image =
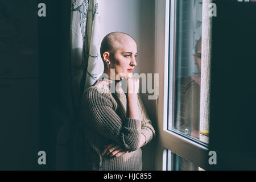
[[(137, 44), (131, 38), (125, 38), (118, 43), (114, 55), (110, 55), (110, 69), (115, 69), (115, 79), (119, 77), (130, 77), (134, 67), (137, 65)], [(118, 77), (119, 76), (119, 77)]]

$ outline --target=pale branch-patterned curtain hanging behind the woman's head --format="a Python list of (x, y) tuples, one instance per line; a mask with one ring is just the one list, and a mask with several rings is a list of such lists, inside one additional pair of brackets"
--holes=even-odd
[(100, 57), (99, 0), (72, 0), (71, 80), (73, 105), (80, 107), (81, 95), (103, 72)]

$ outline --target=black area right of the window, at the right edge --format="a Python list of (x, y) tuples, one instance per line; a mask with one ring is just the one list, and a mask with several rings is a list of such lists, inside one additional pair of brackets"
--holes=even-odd
[(210, 93), (212, 169), (256, 169), (256, 3), (214, 1)]

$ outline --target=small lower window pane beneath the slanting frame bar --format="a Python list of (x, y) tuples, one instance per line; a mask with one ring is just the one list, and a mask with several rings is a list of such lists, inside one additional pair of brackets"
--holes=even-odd
[(188, 160), (181, 158), (179, 155), (174, 154), (168, 150), (167, 153), (167, 167), (168, 171), (204, 171), (204, 169), (196, 166)]

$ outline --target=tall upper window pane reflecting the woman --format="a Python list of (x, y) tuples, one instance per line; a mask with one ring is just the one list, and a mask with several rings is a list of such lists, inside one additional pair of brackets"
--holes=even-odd
[[(205, 123), (200, 123), (200, 70), (201, 70), (201, 22), (202, 0), (180, 0), (172, 3), (170, 42), (174, 44), (172, 101), (168, 129), (208, 143)], [(170, 51), (171, 52), (171, 51)], [(201, 126), (200, 126), (201, 125)], [(201, 130), (200, 130), (201, 129)]]

